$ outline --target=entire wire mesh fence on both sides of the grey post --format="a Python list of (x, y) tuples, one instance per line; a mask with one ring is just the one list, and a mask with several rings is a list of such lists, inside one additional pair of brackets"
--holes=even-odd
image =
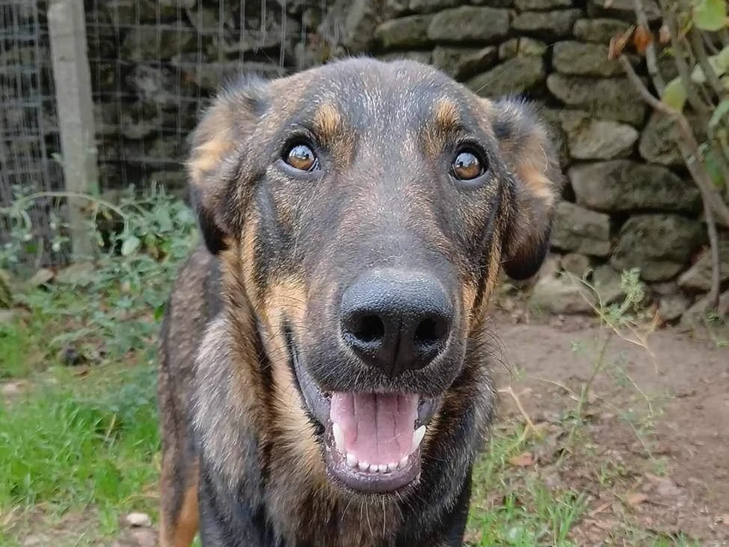
[[(63, 189), (45, 10), (40, 0), (0, 0), (0, 208), (20, 193)], [(325, 0), (85, 0), (102, 195), (152, 182), (184, 195), (187, 135), (219, 84), (318, 63), (309, 46), (326, 10)], [(54, 239), (63, 201), (34, 203), (34, 236), (46, 244), (33, 257), (23, 249), (22, 260), (63, 262)], [(0, 241), (28, 238), (4, 216)]]

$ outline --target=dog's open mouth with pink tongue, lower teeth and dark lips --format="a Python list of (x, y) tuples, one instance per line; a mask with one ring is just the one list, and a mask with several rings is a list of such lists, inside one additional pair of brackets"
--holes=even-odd
[(391, 493), (415, 484), (437, 398), (416, 393), (325, 393), (292, 344), (289, 352), (305, 406), (324, 430), (323, 459), (330, 476), (362, 493)]

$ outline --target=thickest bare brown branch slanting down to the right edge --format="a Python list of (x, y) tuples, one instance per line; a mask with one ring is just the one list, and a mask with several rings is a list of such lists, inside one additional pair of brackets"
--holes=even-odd
[(647, 102), (653, 109), (662, 112), (663, 114), (671, 117), (677, 124), (679, 130), (679, 149), (686, 163), (686, 167), (689, 170), (694, 182), (698, 186), (698, 190), (701, 191), (702, 195), (706, 195), (706, 201), (713, 208), (714, 211), (722, 218), (723, 222), (729, 224), (729, 207), (726, 206), (718, 190), (714, 187), (711, 177), (706, 172), (703, 164), (699, 160), (701, 158), (701, 152), (699, 152), (698, 142), (693, 135), (693, 130), (688, 123), (686, 117), (676, 110), (672, 109), (665, 103), (659, 101), (650, 91), (645, 87), (641, 79), (634, 71), (630, 61), (625, 55), (620, 55), (620, 63), (623, 65), (623, 70), (627, 74), (631, 84), (634, 85), (643, 100)]

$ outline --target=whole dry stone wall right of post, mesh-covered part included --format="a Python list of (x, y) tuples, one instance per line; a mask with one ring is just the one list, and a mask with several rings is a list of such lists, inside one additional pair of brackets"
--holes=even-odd
[[(658, 9), (645, 3), (655, 23)], [(602, 0), (289, 0), (268, 1), (266, 9), (251, 1), (91, 4), (107, 187), (151, 174), (181, 188), (184, 135), (200, 101), (235, 71), (273, 77), (345, 54), (412, 58), (481, 96), (523, 93), (544, 106), (569, 179), (553, 236), (557, 268), (578, 275), (594, 268), (593, 282), (609, 300), (620, 298), (619, 271), (641, 268), (668, 320), (709, 288), (701, 199), (672, 140), (675, 129), (607, 59), (609, 39), (634, 20), (632, 0), (607, 8)], [(645, 74), (642, 61), (632, 62)], [(674, 75), (670, 62), (660, 69)], [(726, 290), (726, 233), (722, 246)], [(585, 311), (551, 270), (543, 279), (539, 306)]]

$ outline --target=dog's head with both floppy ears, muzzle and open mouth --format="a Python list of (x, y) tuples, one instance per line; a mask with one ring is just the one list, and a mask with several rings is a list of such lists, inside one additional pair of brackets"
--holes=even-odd
[(428, 66), (348, 59), (231, 85), (188, 169), (329, 480), (413, 484), (443, 398), (486, 366), (470, 342), (499, 268), (525, 279), (545, 257), (561, 187), (545, 127)]

